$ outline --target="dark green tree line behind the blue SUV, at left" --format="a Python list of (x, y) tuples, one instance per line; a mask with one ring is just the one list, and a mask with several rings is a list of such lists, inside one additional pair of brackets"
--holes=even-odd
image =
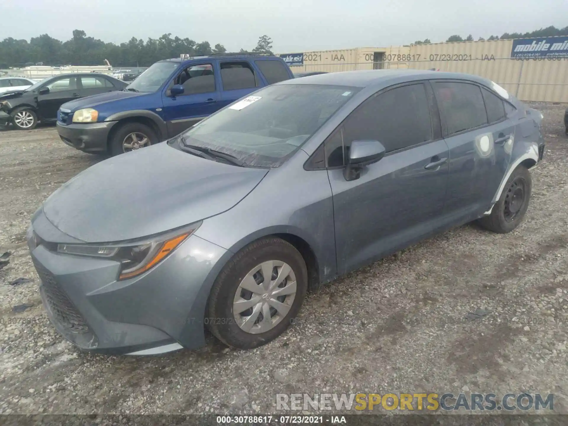
[[(272, 39), (264, 35), (258, 39), (253, 52), (272, 53)], [(94, 37), (87, 37), (85, 31), (74, 30), (73, 38), (67, 41), (54, 39), (48, 34), (27, 40), (8, 37), (0, 41), (0, 68), (22, 67), (37, 64), (61, 65), (105, 65), (105, 59), (112, 66), (150, 66), (161, 59), (179, 57), (182, 53), (192, 56), (224, 53), (227, 49), (222, 44), (211, 47), (208, 41), (180, 38), (164, 34), (159, 39), (136, 39), (132, 37), (126, 43), (105, 43)], [(246, 52), (241, 49), (242, 52)]]

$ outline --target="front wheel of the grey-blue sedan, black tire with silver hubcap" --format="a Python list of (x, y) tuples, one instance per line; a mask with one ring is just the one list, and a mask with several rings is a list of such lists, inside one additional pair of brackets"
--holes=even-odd
[(306, 262), (293, 245), (279, 238), (255, 241), (240, 250), (215, 280), (205, 323), (225, 345), (257, 348), (294, 321), (307, 282)]

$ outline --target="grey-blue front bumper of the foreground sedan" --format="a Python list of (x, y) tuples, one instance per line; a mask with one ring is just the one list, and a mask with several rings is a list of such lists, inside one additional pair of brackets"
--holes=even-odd
[(53, 243), (72, 242), (58, 234), (40, 211), (28, 229), (28, 246), (45, 310), (65, 339), (109, 354), (156, 354), (205, 343), (207, 296), (227, 250), (193, 235), (148, 272), (116, 281), (118, 262), (58, 253)]

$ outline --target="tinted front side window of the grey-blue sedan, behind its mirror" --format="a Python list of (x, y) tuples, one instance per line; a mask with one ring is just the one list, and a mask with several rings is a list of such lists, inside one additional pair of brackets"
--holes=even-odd
[(325, 141), (328, 167), (345, 164), (354, 140), (378, 140), (387, 152), (432, 140), (424, 85), (397, 87), (367, 99)]

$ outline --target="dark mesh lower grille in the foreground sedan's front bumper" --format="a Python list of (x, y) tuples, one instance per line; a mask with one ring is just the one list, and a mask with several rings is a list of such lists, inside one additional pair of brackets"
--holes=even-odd
[(34, 266), (43, 285), (45, 301), (49, 304), (53, 319), (66, 332), (72, 335), (91, 334), (89, 325), (85, 323), (83, 316), (73, 306), (73, 302), (61, 289), (53, 274), (45, 269), (39, 262), (34, 260)]

